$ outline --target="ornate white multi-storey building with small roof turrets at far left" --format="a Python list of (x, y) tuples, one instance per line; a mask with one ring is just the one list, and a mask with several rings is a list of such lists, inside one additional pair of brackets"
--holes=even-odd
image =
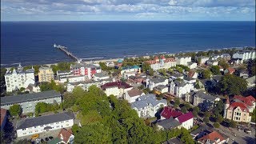
[(17, 70), (6, 71), (6, 91), (11, 92), (13, 90), (19, 90), (20, 88), (26, 88), (30, 84), (34, 84), (34, 69), (23, 70), (22, 66), (19, 65)]

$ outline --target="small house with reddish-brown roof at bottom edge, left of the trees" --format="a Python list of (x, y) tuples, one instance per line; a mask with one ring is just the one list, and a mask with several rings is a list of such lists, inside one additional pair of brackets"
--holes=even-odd
[(47, 144), (57, 144), (57, 143), (64, 143), (64, 144), (72, 144), (74, 143), (74, 134), (72, 130), (66, 130), (62, 128), (62, 130), (58, 133), (58, 137), (52, 139), (51, 141), (47, 142)]

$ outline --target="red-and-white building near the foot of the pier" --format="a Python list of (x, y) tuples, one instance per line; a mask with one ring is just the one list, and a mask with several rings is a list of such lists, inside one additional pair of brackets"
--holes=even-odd
[(95, 64), (76, 63), (70, 66), (70, 71), (76, 76), (87, 76), (89, 79), (96, 73), (101, 73), (100, 66)]

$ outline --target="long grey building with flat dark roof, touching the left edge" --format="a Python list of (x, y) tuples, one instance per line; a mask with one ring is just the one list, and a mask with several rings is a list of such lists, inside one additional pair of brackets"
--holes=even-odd
[(62, 95), (54, 90), (41, 93), (19, 94), (14, 96), (1, 97), (1, 108), (9, 110), (10, 106), (18, 104), (22, 107), (22, 113), (34, 113), (38, 102), (62, 103)]

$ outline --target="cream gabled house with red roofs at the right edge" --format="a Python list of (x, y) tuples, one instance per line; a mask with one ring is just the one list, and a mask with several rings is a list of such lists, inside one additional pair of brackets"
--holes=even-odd
[(234, 120), (235, 122), (250, 122), (250, 112), (252, 112), (254, 108), (254, 97), (235, 95), (231, 101), (229, 98), (226, 99), (223, 117)]

